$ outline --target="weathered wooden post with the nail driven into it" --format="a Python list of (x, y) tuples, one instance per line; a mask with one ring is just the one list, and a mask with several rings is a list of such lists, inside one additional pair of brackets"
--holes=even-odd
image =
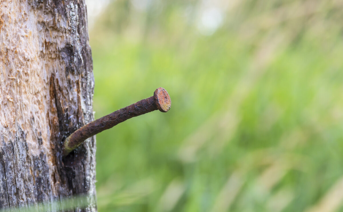
[(0, 208), (95, 196), (95, 138), (61, 155), (93, 88), (83, 0), (0, 0)]

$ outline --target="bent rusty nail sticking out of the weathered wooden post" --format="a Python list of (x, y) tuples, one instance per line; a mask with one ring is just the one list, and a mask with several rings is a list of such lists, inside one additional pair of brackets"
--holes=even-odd
[(77, 129), (64, 141), (63, 157), (67, 156), (84, 140), (104, 131), (105, 129), (112, 128), (123, 121), (131, 119), (132, 117), (143, 115), (154, 110), (167, 112), (170, 109), (170, 105), (171, 101), (168, 92), (164, 88), (157, 88), (154, 92), (154, 96), (119, 109)]

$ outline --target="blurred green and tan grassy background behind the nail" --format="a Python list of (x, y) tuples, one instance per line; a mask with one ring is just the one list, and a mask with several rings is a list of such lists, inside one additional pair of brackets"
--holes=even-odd
[(343, 2), (88, 0), (104, 211), (343, 211)]

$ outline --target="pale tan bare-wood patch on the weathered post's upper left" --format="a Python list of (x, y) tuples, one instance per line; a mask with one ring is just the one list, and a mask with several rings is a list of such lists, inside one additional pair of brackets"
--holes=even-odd
[[(3, 3), (3, 2), (2, 2)], [(14, 140), (16, 125), (25, 129), (26, 142), (33, 155), (38, 154), (36, 133), (42, 134), (43, 146), (47, 147), (48, 130), (46, 114), (48, 105), (42, 90), (47, 90), (48, 79), (37, 57), (39, 46), (33, 39), (37, 23), (28, 5), (13, 2), (1, 10), (1, 132), (5, 141)], [(17, 11), (22, 11), (21, 13)], [(32, 120), (36, 117), (35, 120)], [(0, 144), (1, 145), (1, 144)], [(47, 148), (49, 151), (50, 148)]]

